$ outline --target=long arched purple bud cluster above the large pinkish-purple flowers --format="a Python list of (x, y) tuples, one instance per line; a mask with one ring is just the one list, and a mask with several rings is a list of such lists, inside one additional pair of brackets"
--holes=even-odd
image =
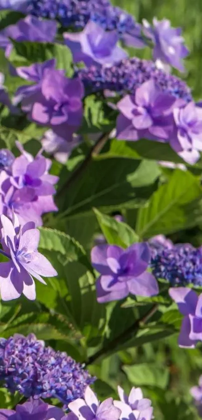
[(105, 89), (134, 95), (136, 88), (149, 79), (155, 81), (161, 92), (168, 93), (185, 102), (192, 100), (190, 88), (176, 76), (166, 74), (157, 69), (152, 61), (138, 58), (122, 60), (111, 67), (91, 66), (80, 69), (77, 75), (84, 84), (87, 93), (104, 91)]

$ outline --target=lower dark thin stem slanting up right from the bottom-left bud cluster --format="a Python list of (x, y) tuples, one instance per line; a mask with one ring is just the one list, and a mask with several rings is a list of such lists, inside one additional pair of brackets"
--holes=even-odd
[(118, 337), (115, 337), (106, 347), (102, 347), (97, 353), (93, 354), (91, 357), (89, 357), (86, 365), (94, 363), (95, 360), (97, 360), (99, 357), (104, 356), (111, 350), (116, 349), (116, 347), (119, 347), (123, 342), (127, 341), (131, 334), (136, 332), (141, 324), (144, 324), (147, 322), (152, 315), (156, 312), (158, 309), (158, 304), (155, 303), (155, 305), (152, 306), (151, 309), (146, 312), (145, 315), (143, 315), (141, 318), (137, 319), (130, 327), (128, 327), (125, 331), (123, 331)]

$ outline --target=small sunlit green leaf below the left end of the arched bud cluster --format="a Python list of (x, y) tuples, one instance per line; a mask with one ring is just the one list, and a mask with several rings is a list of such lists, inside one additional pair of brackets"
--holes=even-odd
[(117, 113), (105, 102), (104, 98), (90, 95), (84, 101), (84, 117), (80, 133), (108, 132), (115, 127)]

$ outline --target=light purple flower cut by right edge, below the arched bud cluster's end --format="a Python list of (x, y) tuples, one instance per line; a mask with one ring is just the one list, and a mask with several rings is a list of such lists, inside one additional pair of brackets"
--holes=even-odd
[(190, 164), (200, 157), (202, 150), (202, 109), (193, 102), (173, 110), (174, 132), (170, 146), (178, 155)]

